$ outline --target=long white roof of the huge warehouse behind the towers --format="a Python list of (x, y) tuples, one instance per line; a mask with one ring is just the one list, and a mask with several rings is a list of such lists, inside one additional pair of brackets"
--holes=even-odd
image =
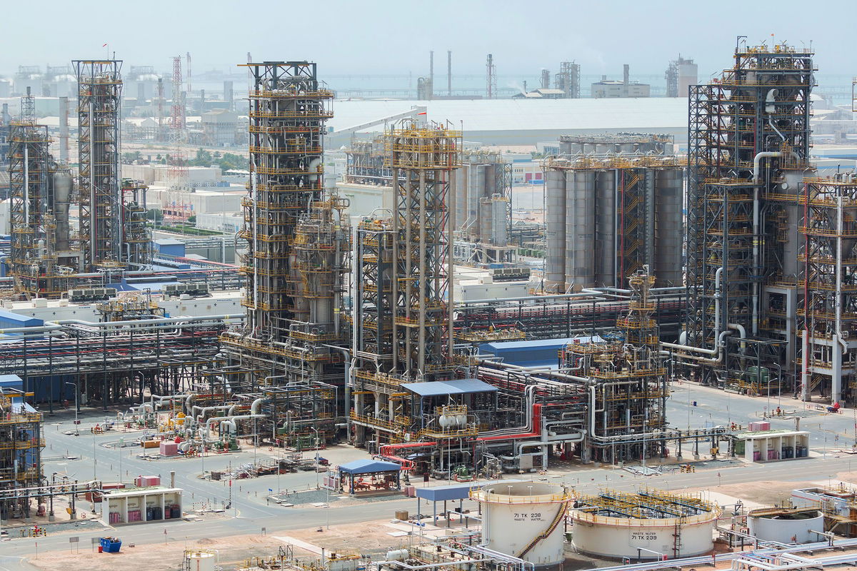
[[(456, 127), (461, 124), (465, 138), (469, 131), (633, 128), (658, 132), (687, 127), (686, 98), (336, 100), (327, 126), (333, 130), (350, 128), (416, 105), (427, 107), (429, 120), (448, 120)], [(380, 132), (383, 128), (381, 124), (361, 132)]]

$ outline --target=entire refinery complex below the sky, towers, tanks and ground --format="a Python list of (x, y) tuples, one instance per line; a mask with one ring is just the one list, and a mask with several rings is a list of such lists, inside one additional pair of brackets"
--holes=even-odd
[(799, 44), (0, 76), (0, 569), (857, 565), (857, 80)]

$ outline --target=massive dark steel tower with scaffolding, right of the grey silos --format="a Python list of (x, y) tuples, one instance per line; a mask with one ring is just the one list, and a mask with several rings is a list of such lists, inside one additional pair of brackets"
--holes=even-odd
[(797, 204), (777, 195), (808, 169), (812, 55), (739, 42), (733, 68), (690, 88), (686, 342), (722, 358), (680, 359), (704, 384), (792, 366)]

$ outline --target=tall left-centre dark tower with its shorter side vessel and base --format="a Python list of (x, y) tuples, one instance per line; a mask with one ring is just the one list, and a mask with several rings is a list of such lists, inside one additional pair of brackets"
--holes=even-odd
[[(250, 181), (243, 200), (247, 307), (244, 329), (221, 337), (232, 366), (278, 380), (262, 388), (281, 437), (333, 437), (336, 389), (344, 389), (347, 330), (340, 326), (343, 279), (351, 251), (346, 202), (324, 191), (322, 139), (333, 116), (315, 63), (248, 63)], [(302, 395), (299, 403), (286, 398)], [(291, 397), (290, 397), (291, 398)], [(291, 404), (288, 404), (291, 403)], [(344, 413), (344, 411), (343, 411)]]

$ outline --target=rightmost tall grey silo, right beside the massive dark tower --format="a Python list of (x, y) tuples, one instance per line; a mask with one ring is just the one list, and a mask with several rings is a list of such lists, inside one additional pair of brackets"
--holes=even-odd
[(683, 283), (681, 249), (684, 232), (681, 219), (681, 196), (684, 184), (680, 167), (655, 170), (655, 285), (677, 287)]

